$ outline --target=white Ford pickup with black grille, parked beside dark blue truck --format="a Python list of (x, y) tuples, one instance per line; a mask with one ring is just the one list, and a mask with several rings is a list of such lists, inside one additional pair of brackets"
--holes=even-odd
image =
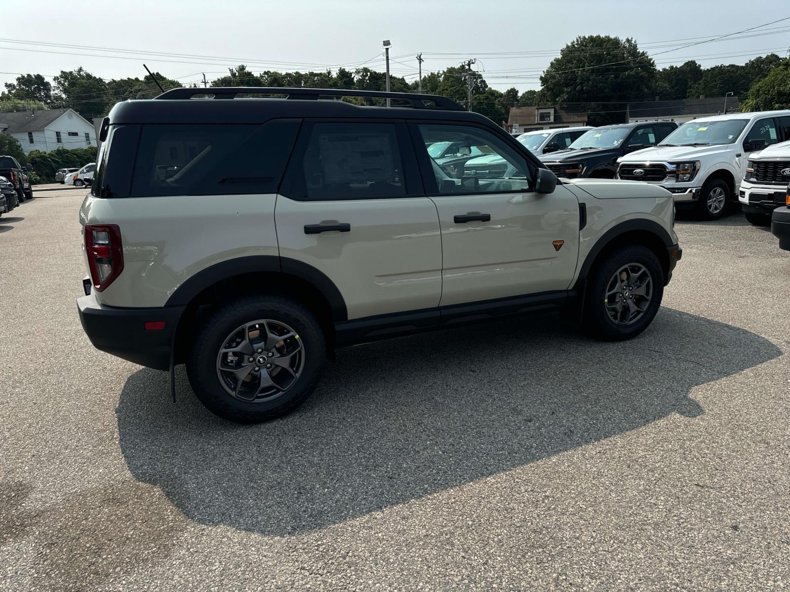
[(678, 207), (694, 207), (703, 218), (717, 219), (739, 196), (751, 155), (786, 140), (790, 111), (694, 119), (653, 148), (621, 156), (617, 177), (661, 185)]

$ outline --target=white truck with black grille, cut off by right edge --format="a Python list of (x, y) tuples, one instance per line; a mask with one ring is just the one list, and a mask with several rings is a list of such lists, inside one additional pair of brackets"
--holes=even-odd
[(738, 200), (749, 223), (770, 226), (773, 210), (787, 204), (788, 184), (790, 141), (754, 152), (738, 191)]

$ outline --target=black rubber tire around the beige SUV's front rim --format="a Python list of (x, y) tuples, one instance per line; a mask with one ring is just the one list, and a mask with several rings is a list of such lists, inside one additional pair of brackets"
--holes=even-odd
[[(626, 265), (641, 265), (649, 272), (652, 283), (652, 294), (641, 316), (630, 324), (618, 324), (613, 320), (608, 311), (607, 301), (608, 286), (615, 274)], [(645, 282), (641, 282), (642, 285)], [(616, 294), (615, 294), (616, 295)], [(622, 294), (620, 294), (622, 297)], [(597, 339), (606, 341), (619, 341), (631, 339), (647, 328), (656, 317), (664, 297), (664, 271), (660, 261), (650, 249), (641, 245), (627, 245), (608, 253), (600, 264), (596, 264), (587, 282), (585, 293), (584, 325), (587, 332)], [(639, 298), (633, 296), (634, 302), (639, 303)], [(614, 301), (612, 301), (614, 302)]]

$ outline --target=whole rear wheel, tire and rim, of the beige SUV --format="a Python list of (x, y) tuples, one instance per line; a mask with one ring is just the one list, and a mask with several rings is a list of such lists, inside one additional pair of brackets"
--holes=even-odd
[(194, 339), (187, 374), (220, 418), (258, 423), (299, 407), (326, 361), (318, 320), (299, 302), (249, 297), (217, 309)]

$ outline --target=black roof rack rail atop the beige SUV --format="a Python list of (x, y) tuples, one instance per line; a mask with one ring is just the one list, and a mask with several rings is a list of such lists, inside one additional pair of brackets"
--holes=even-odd
[[(171, 88), (154, 99), (191, 99), (198, 95), (213, 95), (214, 99), (235, 99), (237, 95), (288, 95), (288, 99), (317, 100), (319, 96), (367, 96), (377, 99), (402, 99), (414, 109), (442, 109), (466, 111), (453, 99), (438, 95), (419, 95), (412, 92), (348, 91), (340, 88), (288, 88), (288, 87), (216, 87)], [(428, 105), (426, 103), (433, 103)]]

